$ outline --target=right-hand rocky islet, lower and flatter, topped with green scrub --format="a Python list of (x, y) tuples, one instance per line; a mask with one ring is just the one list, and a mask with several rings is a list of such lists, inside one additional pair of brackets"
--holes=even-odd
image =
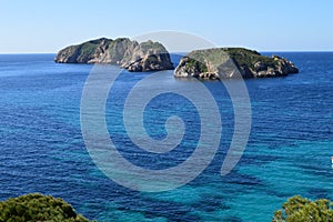
[(174, 77), (215, 80), (283, 77), (297, 72), (292, 62), (278, 56), (264, 57), (243, 48), (213, 48), (188, 53), (175, 68)]

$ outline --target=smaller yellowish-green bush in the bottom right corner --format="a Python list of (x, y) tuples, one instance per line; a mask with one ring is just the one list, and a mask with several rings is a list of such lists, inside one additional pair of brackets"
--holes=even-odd
[(333, 222), (332, 205), (326, 199), (311, 201), (295, 195), (275, 211), (272, 222)]

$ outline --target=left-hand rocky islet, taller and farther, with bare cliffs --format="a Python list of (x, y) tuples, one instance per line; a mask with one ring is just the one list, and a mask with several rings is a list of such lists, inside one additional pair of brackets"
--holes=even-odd
[(59, 63), (119, 64), (133, 72), (173, 69), (170, 54), (159, 42), (137, 42), (128, 38), (101, 38), (60, 50), (54, 58)]

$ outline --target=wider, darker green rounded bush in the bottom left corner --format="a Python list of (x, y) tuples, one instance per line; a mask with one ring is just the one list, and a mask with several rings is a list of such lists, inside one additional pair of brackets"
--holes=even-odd
[(88, 222), (70, 204), (51, 195), (31, 193), (0, 202), (0, 221)]

